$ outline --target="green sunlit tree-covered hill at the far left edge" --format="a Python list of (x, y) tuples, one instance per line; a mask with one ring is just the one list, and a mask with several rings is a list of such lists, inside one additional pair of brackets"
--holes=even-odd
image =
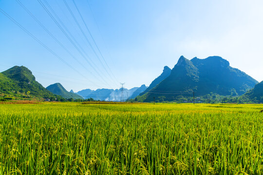
[(56, 97), (36, 81), (32, 72), (24, 66), (14, 66), (0, 73), (0, 92), (7, 95), (25, 95), (40, 98)]

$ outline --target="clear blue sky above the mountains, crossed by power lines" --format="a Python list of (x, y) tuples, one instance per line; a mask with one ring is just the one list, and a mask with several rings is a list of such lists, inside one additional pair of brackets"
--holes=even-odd
[(44, 87), (60, 82), (74, 91), (132, 88), (149, 86), (181, 55), (218, 55), (263, 81), (262, 0), (75, 0), (85, 23), (74, 1), (65, 2), (0, 0), (5, 13), (49, 48), (0, 13), (0, 71), (25, 66)]

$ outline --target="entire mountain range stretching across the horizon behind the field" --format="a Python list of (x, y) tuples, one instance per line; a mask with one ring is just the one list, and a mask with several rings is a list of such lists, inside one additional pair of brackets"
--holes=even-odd
[[(49, 90), (48, 90), (49, 89)], [(32, 72), (24, 66), (14, 66), (0, 73), (0, 96), (61, 99), (87, 99), (101, 101), (120, 101), (120, 89), (83, 89), (74, 93), (68, 92), (60, 83), (44, 88), (36, 81)], [(263, 103), (263, 82), (241, 70), (232, 68), (229, 62), (220, 56), (209, 56), (206, 59), (194, 57), (188, 60), (181, 56), (172, 70), (167, 66), (160, 76), (152, 81), (149, 87), (142, 85), (123, 89), (124, 100), (136, 99), (150, 102), (155, 100), (173, 101), (177, 96), (196, 97), (207, 94), (222, 96), (240, 96), (240, 102)], [(56, 95), (57, 94), (57, 95)], [(65, 99), (64, 99), (65, 100)]]

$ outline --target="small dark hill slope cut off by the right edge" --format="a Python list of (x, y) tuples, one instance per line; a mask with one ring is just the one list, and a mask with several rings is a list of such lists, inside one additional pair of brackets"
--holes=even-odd
[(244, 102), (263, 103), (263, 81), (241, 96)]

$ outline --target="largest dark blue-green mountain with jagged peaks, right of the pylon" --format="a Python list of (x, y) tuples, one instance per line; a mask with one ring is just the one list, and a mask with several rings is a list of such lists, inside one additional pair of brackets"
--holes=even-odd
[(242, 95), (258, 82), (243, 71), (232, 68), (220, 56), (188, 60), (181, 56), (170, 75), (150, 92), (143, 95), (145, 101), (165, 99), (172, 101), (179, 95), (203, 96), (210, 92), (219, 95)]

